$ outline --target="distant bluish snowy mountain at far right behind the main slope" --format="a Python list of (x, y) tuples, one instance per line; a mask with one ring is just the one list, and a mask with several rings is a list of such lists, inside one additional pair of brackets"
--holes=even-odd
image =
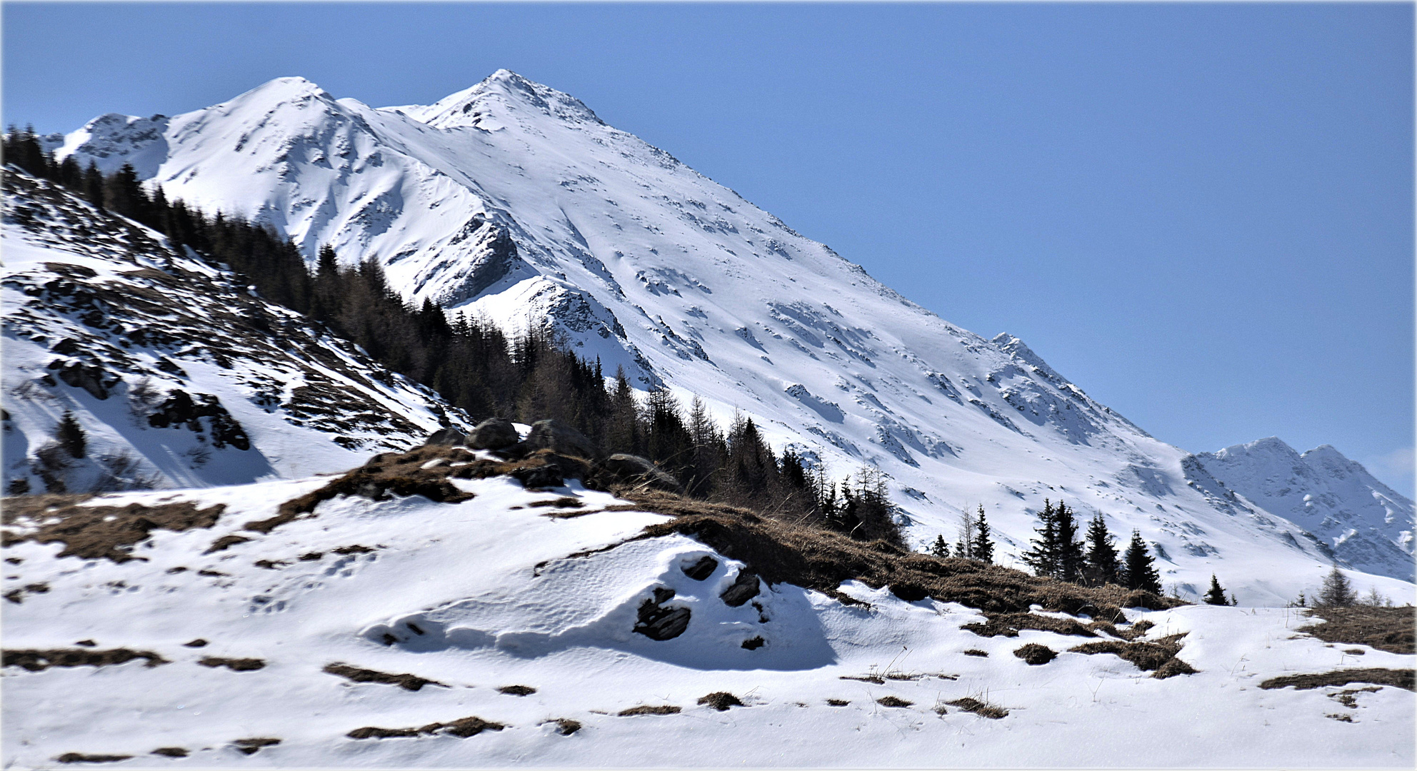
[(1349, 565), (1413, 580), (1413, 502), (1333, 446), (1299, 455), (1270, 437), (1196, 458), (1231, 490), (1323, 539)]

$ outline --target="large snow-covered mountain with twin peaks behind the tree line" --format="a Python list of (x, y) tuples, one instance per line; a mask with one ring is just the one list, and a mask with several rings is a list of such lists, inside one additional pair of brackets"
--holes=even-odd
[[(1221, 485), (1016, 337), (959, 329), (572, 96), (499, 71), (434, 105), (371, 108), (279, 78), (174, 118), (45, 139), (313, 259), (373, 257), (414, 300), (550, 323), (606, 371), (741, 410), (840, 478), (877, 463), (913, 543), (983, 505), (1005, 561), (1044, 499), (1153, 543), (1168, 591), (1241, 604), (1318, 585), (1326, 541)], [(864, 224), (862, 227), (870, 227)], [(1408, 570), (1390, 573), (1410, 578)], [(1356, 577), (1406, 597), (1410, 584)]]

